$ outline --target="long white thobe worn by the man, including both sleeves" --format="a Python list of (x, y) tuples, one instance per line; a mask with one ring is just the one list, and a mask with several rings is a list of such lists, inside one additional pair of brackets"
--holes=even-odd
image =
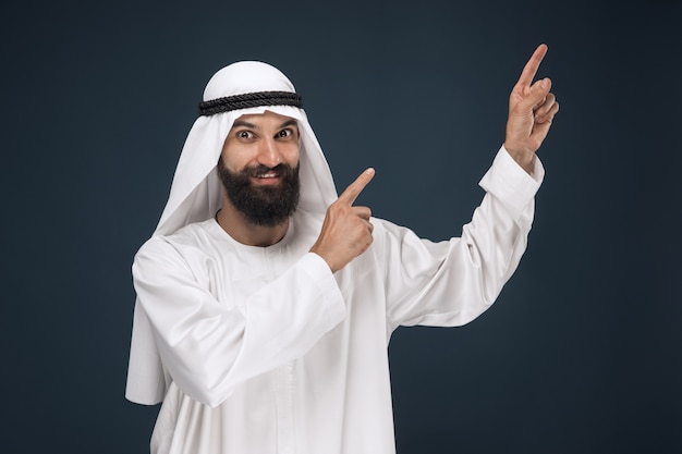
[(149, 240), (133, 275), (166, 376), (151, 452), (394, 453), (391, 332), (464, 324), (492, 304), (525, 250), (543, 173), (501, 149), (461, 237), (433, 243), (373, 218), (370, 248), (334, 274), (308, 251), (322, 218), (305, 212), (269, 247), (212, 219)]

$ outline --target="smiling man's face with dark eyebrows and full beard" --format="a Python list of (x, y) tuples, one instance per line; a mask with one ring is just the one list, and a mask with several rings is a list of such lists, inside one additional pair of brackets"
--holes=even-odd
[(273, 226), (296, 209), (299, 126), (266, 111), (234, 121), (222, 146), (218, 175), (232, 205), (255, 225)]

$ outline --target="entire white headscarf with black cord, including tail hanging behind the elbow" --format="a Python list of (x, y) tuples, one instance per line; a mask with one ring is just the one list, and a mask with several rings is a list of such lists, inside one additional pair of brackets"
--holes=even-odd
[[(256, 61), (233, 63), (218, 71), (206, 85), (204, 101), (260, 91), (295, 93), (293, 84), (276, 68)], [(293, 118), (301, 134), (299, 209), (324, 214), (337, 199), (329, 164), (313, 133), (305, 111), (292, 106), (263, 106), (199, 116), (182, 149), (170, 196), (154, 235), (168, 235), (193, 222), (211, 218), (222, 205), (216, 164), (232, 124), (241, 115), (266, 110)], [(141, 404), (163, 400), (166, 377), (151, 326), (135, 304), (125, 396)]]

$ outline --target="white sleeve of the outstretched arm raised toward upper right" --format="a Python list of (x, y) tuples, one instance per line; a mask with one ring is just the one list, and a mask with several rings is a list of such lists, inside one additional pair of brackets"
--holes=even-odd
[(461, 326), (484, 312), (525, 250), (543, 177), (538, 158), (529, 175), (502, 147), (480, 180), (486, 195), (461, 237), (433, 243), (409, 229), (382, 223), (377, 254), (387, 267), (389, 329)]

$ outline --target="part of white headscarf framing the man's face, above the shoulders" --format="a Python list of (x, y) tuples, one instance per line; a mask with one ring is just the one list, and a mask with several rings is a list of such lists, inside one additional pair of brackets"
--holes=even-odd
[[(206, 85), (204, 101), (259, 91), (295, 93), (293, 84), (269, 64), (243, 61), (218, 71)], [(267, 106), (199, 116), (192, 126), (178, 162), (170, 197), (155, 235), (166, 235), (192, 222), (204, 221), (221, 205), (216, 163), (234, 120), (269, 110), (291, 116), (301, 131), (301, 201), (308, 212), (324, 213), (337, 199), (327, 160), (303, 109)]]

